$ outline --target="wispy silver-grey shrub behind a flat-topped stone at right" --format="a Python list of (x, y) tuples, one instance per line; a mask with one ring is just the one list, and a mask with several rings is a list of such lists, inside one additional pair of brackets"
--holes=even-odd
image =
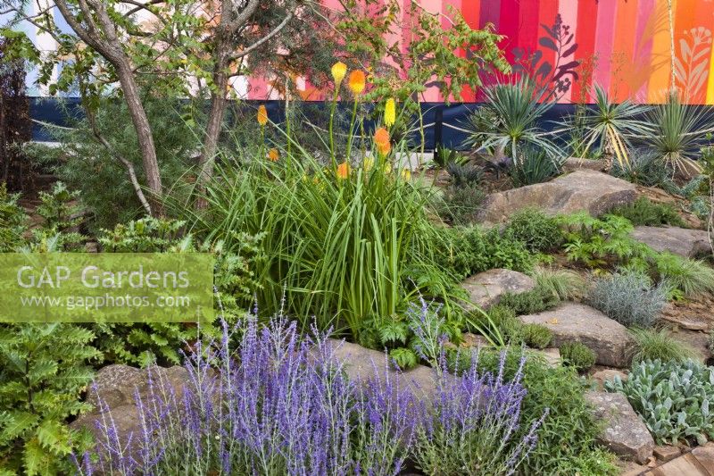
[(624, 326), (650, 327), (667, 304), (668, 286), (652, 286), (635, 272), (618, 272), (595, 280), (587, 302)]

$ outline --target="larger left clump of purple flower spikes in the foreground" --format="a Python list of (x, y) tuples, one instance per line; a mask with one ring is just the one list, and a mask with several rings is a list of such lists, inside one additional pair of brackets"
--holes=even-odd
[[(139, 405), (142, 434), (150, 435), (139, 443), (141, 457), (122, 457), (128, 435), (107, 422), (100, 431), (108, 457), (94, 468), (82, 461), (81, 473), (399, 472), (400, 443), (410, 446), (418, 419), (396, 380), (378, 376), (358, 388), (346, 380), (335, 345), (323, 336), (301, 339), (296, 322), (278, 318), (261, 328), (250, 317), (237, 354), (223, 329), (215, 346), (188, 356), (184, 395), (156, 389)], [(212, 405), (216, 390), (223, 405)]]

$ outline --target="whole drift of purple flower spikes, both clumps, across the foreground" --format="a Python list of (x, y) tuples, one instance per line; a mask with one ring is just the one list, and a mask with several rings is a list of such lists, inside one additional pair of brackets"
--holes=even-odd
[(520, 371), (504, 381), (502, 370), (476, 365), (459, 376), (442, 370), (427, 407), (386, 365), (371, 380), (347, 380), (328, 334), (304, 338), (281, 317), (222, 325), (219, 341), (185, 356), (181, 395), (150, 382), (150, 397), (137, 396), (139, 434), (120, 435), (100, 403), (102, 438), (92, 458), (73, 456), (78, 474), (395, 476), (414, 463), (427, 474), (511, 474), (535, 445), (542, 420), (513, 441)]

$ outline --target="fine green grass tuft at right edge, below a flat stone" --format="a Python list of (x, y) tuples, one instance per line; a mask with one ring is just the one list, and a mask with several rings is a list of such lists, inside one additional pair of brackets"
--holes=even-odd
[(671, 253), (660, 253), (653, 259), (659, 280), (666, 280), (685, 296), (700, 296), (714, 292), (714, 269), (702, 260), (693, 260)]

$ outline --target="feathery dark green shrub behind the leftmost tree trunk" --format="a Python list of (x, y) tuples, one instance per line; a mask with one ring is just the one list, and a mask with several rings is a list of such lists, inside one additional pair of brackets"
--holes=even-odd
[[(137, 135), (123, 99), (100, 99), (96, 125), (114, 153), (134, 164), (137, 178), (145, 183)], [(200, 149), (202, 135), (194, 129), (192, 105), (184, 98), (142, 94), (142, 103), (156, 146), (164, 184), (177, 193), (180, 183), (191, 180), (190, 157)], [(61, 147), (33, 147), (34, 159), (49, 167), (71, 189), (81, 192), (82, 203), (94, 213), (93, 227), (111, 228), (117, 223), (140, 218), (145, 212), (138, 201), (126, 167), (95, 138), (85, 119), (68, 112), (71, 129), (50, 128)], [(195, 177), (195, 174), (193, 174)]]

